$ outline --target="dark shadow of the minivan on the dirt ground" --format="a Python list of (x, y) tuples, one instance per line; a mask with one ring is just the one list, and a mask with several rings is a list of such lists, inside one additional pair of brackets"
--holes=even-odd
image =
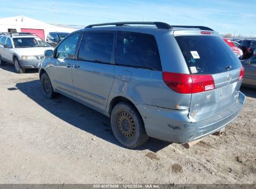
[[(83, 104), (77, 103), (61, 94), (58, 98), (46, 99), (40, 90), (39, 80), (17, 83), (16, 87), (37, 104), (42, 106), (42, 108), (54, 114), (54, 116), (57, 116), (63, 121), (68, 122), (72, 126), (82, 129), (85, 132), (90, 132), (94, 136), (100, 137), (105, 141), (123, 147), (123, 145), (116, 141), (115, 136), (111, 131), (110, 119), (107, 116), (98, 113), (87, 106), (83, 106)], [(158, 152), (169, 144), (169, 142), (149, 138), (145, 145), (142, 145), (135, 150), (149, 149), (153, 152)]]

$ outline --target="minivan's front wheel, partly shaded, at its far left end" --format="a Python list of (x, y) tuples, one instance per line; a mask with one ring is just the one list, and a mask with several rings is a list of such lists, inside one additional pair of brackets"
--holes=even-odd
[(42, 73), (40, 77), (40, 86), (41, 86), (42, 93), (46, 98), (48, 99), (55, 98), (56, 93), (52, 88), (52, 83), (50, 83), (50, 78), (47, 75), (47, 73)]

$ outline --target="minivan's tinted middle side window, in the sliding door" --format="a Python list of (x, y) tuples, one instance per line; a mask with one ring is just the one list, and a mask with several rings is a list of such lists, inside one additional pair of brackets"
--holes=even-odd
[(85, 32), (78, 52), (78, 60), (110, 63), (113, 39), (113, 32)]

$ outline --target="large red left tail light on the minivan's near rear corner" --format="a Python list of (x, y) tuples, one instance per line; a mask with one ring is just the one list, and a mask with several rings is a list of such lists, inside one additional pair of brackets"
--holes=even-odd
[(163, 72), (163, 80), (171, 90), (183, 94), (201, 93), (215, 88), (211, 75)]

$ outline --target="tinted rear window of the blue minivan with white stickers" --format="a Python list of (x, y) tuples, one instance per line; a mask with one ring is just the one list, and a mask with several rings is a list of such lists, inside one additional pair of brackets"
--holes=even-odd
[(241, 67), (235, 53), (220, 37), (189, 35), (175, 38), (193, 74), (216, 74)]

